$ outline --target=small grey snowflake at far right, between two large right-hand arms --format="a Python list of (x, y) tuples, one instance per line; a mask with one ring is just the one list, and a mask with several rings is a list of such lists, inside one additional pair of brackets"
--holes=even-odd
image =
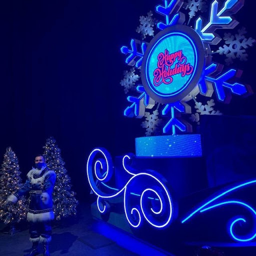
[(245, 38), (244, 34), (246, 33), (247, 31), (244, 27), (238, 29), (238, 33), (235, 35), (224, 33), (223, 39), (225, 40), (225, 44), (223, 47), (219, 47), (216, 52), (220, 55), (226, 55), (225, 62), (227, 65), (232, 64), (235, 58), (239, 58), (242, 61), (247, 60), (248, 54), (245, 49), (247, 49), (248, 46), (252, 46), (255, 40), (251, 37), (248, 39)]

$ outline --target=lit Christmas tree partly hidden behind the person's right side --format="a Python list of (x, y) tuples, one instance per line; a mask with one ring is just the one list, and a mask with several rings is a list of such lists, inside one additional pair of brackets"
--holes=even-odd
[(76, 214), (78, 201), (75, 192), (71, 190), (70, 177), (64, 167), (60, 149), (53, 137), (46, 139), (43, 156), (49, 169), (54, 170), (57, 178), (53, 190), (53, 210), (57, 220)]

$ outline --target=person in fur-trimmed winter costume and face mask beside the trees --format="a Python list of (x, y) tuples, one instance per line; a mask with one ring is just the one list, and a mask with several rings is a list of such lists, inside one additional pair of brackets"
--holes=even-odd
[(56, 179), (53, 170), (49, 170), (44, 157), (35, 157), (35, 168), (27, 173), (27, 180), (22, 187), (7, 198), (7, 201), (17, 202), (18, 198), (29, 192), (29, 209), (26, 216), (29, 222), (30, 240), (32, 241), (31, 252), (26, 256), (39, 254), (38, 243), (43, 243), (44, 256), (49, 256), (48, 243), (51, 240), (51, 224), (54, 218), (52, 209), (52, 191)]

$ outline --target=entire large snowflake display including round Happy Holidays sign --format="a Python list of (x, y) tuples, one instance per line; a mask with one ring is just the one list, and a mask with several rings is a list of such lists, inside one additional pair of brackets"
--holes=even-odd
[[(182, 6), (190, 10), (187, 17), (180, 11)], [(125, 92), (136, 88), (133, 95), (127, 97), (129, 105), (124, 116), (144, 117), (141, 126), (146, 128), (146, 135), (151, 135), (161, 125), (158, 116), (162, 119), (162, 133), (188, 132), (192, 126), (185, 121), (189, 118), (183, 118), (184, 114), (190, 114), (190, 121), (199, 122), (200, 114), (221, 114), (213, 109), (212, 97), (228, 103), (233, 94), (250, 94), (250, 87), (238, 81), (241, 71), (223, 65), (230, 60), (218, 63), (218, 54), (213, 54), (211, 49), (222, 40), (217, 30), (236, 27), (238, 21), (231, 15), (242, 6), (242, 0), (212, 0), (209, 15), (196, 17), (198, 10), (205, 11), (205, 0), (162, 0), (162, 4), (155, 7), (156, 18), (152, 12), (146, 17), (140, 16), (137, 32), (142, 34), (143, 40), (132, 38), (129, 46), (121, 47), (126, 55), (125, 63), (140, 72), (141, 77), (141, 80), (136, 76), (136, 81), (130, 78), (127, 81), (126, 75), (121, 81)], [(193, 17), (194, 25), (190, 27), (188, 23)], [(159, 30), (157, 33), (154, 25)], [(245, 49), (254, 42), (251, 37), (245, 38), (245, 32), (242, 28), (234, 36), (225, 33), (225, 45), (217, 52), (231, 60), (245, 60)], [(197, 94), (210, 99), (204, 105), (195, 102), (196, 112), (192, 113), (189, 102)], [(146, 109), (151, 109), (153, 114)]]

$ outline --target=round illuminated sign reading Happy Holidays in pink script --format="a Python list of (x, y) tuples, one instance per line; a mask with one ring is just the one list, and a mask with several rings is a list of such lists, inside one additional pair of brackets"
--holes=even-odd
[(148, 95), (160, 103), (181, 100), (195, 87), (204, 66), (199, 35), (185, 25), (159, 32), (147, 46), (141, 79)]

